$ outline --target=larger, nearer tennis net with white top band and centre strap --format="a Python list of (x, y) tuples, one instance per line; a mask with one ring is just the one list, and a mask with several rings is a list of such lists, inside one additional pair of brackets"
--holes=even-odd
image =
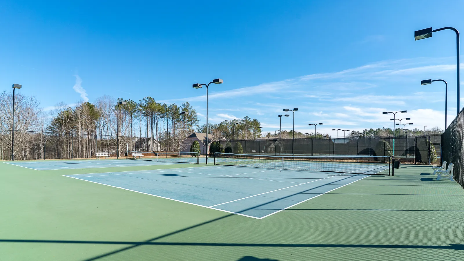
[(268, 156), (216, 152), (214, 164), (277, 170), (393, 175), (390, 156)]

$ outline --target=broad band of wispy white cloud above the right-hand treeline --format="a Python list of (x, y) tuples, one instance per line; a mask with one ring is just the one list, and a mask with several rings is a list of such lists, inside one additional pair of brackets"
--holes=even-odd
[[(295, 113), (297, 131), (312, 132), (308, 123), (322, 122), (317, 130), (335, 128), (362, 131), (365, 128), (391, 128), (390, 118), (382, 111), (407, 110), (405, 117), (419, 124), (439, 126), (444, 122), (445, 88), (442, 85), (420, 85), (425, 78), (449, 79), (455, 86), (454, 58), (415, 58), (379, 61), (339, 72), (326, 72), (240, 87), (210, 93), (210, 122), (245, 115), (257, 118), (264, 132), (279, 127), (278, 114), (284, 108), (299, 108)], [(455, 95), (448, 88), (448, 99)], [(455, 97), (455, 96), (454, 96)], [(178, 98), (190, 101), (205, 118), (206, 96)], [(448, 103), (449, 115), (455, 103)], [(233, 111), (233, 115), (231, 114)], [(213, 112), (213, 113), (212, 113)], [(214, 116), (211, 116), (214, 115)], [(451, 122), (450, 120), (448, 120)], [(416, 123), (417, 122), (417, 123)], [(282, 119), (282, 128), (292, 127), (292, 119)], [(340, 134), (340, 133), (339, 133)]]

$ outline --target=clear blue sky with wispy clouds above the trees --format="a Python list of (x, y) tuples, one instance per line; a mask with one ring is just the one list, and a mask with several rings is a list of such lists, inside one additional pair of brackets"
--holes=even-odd
[[(381, 111), (407, 110), (417, 128), (456, 114), (455, 34), (414, 41), (415, 30), (464, 30), (462, 1), (0, 1), (0, 86), (58, 102), (151, 96), (189, 101), (205, 122), (257, 118), (297, 131), (391, 127)], [(462, 84), (462, 83), (461, 83)], [(462, 95), (464, 97), (464, 95)], [(461, 106), (464, 99), (461, 99)], [(291, 114), (291, 113), (290, 113)], [(283, 130), (291, 129), (291, 117)]]

